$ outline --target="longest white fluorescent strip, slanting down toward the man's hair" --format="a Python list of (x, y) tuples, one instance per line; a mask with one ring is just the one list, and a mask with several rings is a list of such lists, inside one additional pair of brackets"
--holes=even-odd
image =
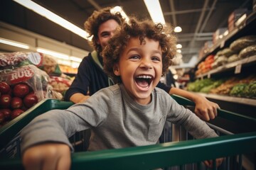
[(89, 34), (85, 30), (82, 30), (78, 26), (75, 26), (73, 23), (66, 21), (65, 19), (61, 18), (60, 16), (57, 16), (55, 13), (49, 11), (48, 9), (43, 8), (43, 6), (40, 6), (30, 0), (26, 0), (26, 1), (14, 0), (14, 1), (16, 1), (18, 4), (21, 4), (22, 6), (25, 6), (26, 8), (31, 9), (32, 11), (38, 13), (39, 15), (48, 18), (48, 20), (53, 21), (54, 23), (57, 23), (60, 26), (63, 26), (64, 28), (72, 31), (73, 33), (79, 35), (80, 37), (88, 40)]

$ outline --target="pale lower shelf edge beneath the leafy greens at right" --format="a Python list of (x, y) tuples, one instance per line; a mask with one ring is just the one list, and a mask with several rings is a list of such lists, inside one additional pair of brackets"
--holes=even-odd
[(201, 96), (205, 96), (206, 98), (213, 98), (221, 101), (229, 101), (233, 103), (241, 103), (250, 106), (256, 106), (256, 100), (252, 98), (239, 98), (233, 96), (222, 96), (218, 94), (203, 94), (203, 93), (196, 93), (200, 94)]

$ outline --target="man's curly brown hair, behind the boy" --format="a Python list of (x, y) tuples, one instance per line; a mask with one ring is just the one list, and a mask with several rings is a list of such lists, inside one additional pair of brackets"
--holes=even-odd
[(112, 7), (106, 7), (100, 9), (100, 11), (94, 11), (92, 15), (89, 18), (87, 18), (87, 21), (85, 21), (84, 23), (85, 31), (89, 33), (89, 37), (93, 35), (92, 42), (90, 42), (90, 45), (92, 45), (92, 47), (94, 47), (94, 49), (97, 52), (102, 52), (102, 47), (97, 44), (97, 33), (99, 31), (100, 25), (110, 19), (117, 21), (119, 25), (121, 25), (124, 22), (124, 18), (122, 17), (121, 13), (111, 13), (111, 8)]

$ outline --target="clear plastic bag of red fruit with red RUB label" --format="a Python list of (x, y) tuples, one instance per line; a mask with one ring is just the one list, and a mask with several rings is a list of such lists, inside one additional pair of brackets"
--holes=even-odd
[(43, 98), (53, 98), (50, 78), (33, 64), (0, 70), (0, 127)]

